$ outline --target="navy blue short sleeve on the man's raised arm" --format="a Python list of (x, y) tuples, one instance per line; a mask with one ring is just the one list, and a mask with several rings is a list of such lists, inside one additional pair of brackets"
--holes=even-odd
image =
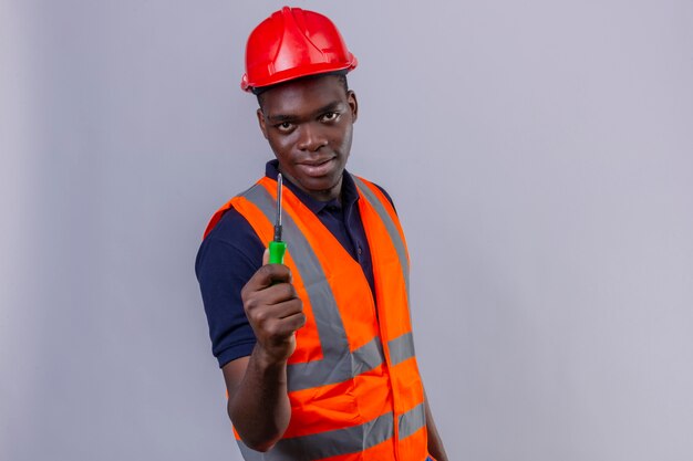
[(250, 355), (256, 337), (240, 291), (262, 264), (265, 245), (248, 221), (231, 209), (203, 241), (195, 273), (203, 295), (211, 352), (219, 367)]

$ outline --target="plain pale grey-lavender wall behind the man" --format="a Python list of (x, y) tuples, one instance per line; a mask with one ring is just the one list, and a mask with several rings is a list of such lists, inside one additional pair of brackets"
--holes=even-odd
[[(693, 459), (693, 2), (318, 2), (453, 460)], [(239, 460), (194, 259), (280, 2), (0, 0), (0, 459)]]

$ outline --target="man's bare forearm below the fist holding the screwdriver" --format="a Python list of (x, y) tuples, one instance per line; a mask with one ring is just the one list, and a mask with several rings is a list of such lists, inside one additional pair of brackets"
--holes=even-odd
[(244, 443), (258, 451), (272, 448), (291, 419), (286, 360), (273, 362), (256, 346), (228, 413)]

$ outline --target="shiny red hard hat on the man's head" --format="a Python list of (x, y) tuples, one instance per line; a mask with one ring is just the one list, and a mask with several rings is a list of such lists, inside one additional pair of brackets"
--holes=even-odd
[(250, 33), (240, 87), (254, 91), (307, 75), (349, 72), (356, 64), (329, 18), (283, 7)]

